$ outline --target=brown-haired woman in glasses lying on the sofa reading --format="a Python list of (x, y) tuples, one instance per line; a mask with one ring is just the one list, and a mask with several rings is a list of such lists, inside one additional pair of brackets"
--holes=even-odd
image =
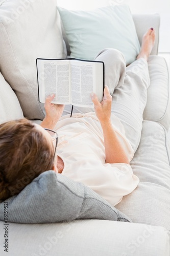
[[(70, 118), (70, 106), (52, 104), (51, 95), (41, 125), (27, 119), (0, 125), (0, 200), (18, 194), (50, 169), (91, 187), (112, 205), (136, 188), (139, 179), (130, 161), (140, 141), (150, 85), (147, 59), (154, 41), (151, 28), (136, 61), (127, 68), (117, 50), (105, 49), (96, 56), (105, 63), (108, 87), (102, 102), (91, 93), (94, 109), (74, 108)], [(58, 147), (52, 130), (59, 135)]]

